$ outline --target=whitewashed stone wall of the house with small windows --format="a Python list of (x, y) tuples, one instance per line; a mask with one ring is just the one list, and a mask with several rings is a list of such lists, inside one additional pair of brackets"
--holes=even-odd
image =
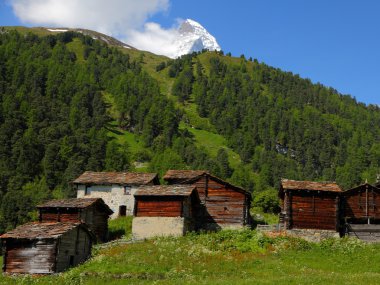
[(132, 216), (135, 206), (134, 194), (137, 191), (137, 187), (130, 187), (128, 191), (124, 191), (122, 185), (92, 185), (87, 189), (86, 185), (78, 185), (77, 198), (102, 198), (104, 203), (108, 205), (113, 211), (111, 219), (115, 219), (119, 216), (120, 206), (127, 207), (127, 216)]

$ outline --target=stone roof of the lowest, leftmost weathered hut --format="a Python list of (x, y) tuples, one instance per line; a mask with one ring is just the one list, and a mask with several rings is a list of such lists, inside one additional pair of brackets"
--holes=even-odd
[(0, 238), (19, 238), (19, 239), (43, 239), (58, 238), (64, 233), (81, 226), (81, 223), (61, 223), (61, 222), (32, 222), (24, 224), (11, 230)]

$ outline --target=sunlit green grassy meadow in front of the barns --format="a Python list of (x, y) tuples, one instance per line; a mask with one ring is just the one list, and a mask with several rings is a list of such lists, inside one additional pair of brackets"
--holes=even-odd
[(160, 238), (94, 250), (85, 264), (0, 284), (379, 284), (380, 245), (320, 244), (256, 231)]

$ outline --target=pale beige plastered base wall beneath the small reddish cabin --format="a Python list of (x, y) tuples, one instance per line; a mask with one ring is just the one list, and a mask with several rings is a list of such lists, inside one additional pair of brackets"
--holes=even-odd
[(183, 217), (134, 217), (133, 239), (141, 240), (157, 236), (183, 236), (191, 230), (191, 223)]

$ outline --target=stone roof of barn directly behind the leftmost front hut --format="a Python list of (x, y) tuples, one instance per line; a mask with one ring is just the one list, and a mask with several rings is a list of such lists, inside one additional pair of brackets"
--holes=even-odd
[(51, 200), (44, 204), (40, 204), (37, 208), (77, 208), (77, 209), (85, 209), (94, 204), (99, 204), (104, 208), (106, 212), (112, 214), (113, 211), (108, 207), (107, 204), (104, 203), (102, 198), (71, 198), (71, 199), (59, 199), (59, 200)]

